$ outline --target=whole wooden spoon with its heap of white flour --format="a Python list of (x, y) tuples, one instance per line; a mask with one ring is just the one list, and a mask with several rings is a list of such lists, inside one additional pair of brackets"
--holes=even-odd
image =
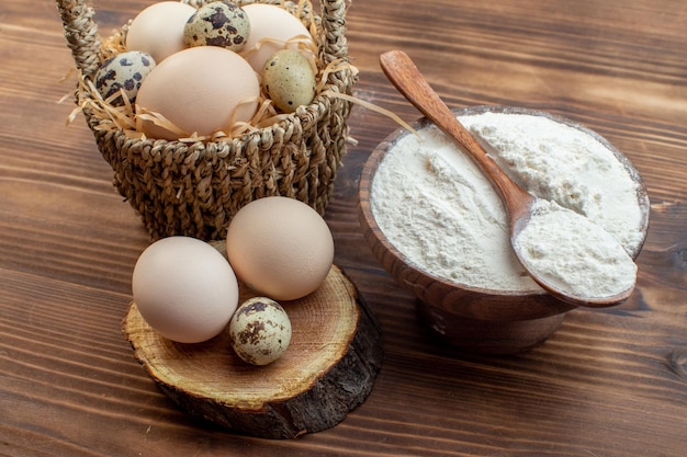
[(630, 296), (637, 265), (611, 233), (585, 216), (537, 198), (517, 185), (451, 113), (405, 53), (385, 53), (380, 64), (396, 89), (469, 153), (491, 180), (508, 214), (514, 252), (534, 282), (556, 298), (577, 306), (613, 306)]

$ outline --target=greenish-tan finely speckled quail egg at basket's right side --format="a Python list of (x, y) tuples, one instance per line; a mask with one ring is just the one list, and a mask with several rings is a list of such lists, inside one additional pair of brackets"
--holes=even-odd
[(268, 59), (262, 69), (262, 91), (274, 106), (293, 113), (315, 98), (316, 75), (307, 58), (297, 50), (282, 49)]

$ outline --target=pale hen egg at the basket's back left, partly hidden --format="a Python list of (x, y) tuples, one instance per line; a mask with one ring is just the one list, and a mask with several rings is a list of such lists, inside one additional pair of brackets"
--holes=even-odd
[(183, 28), (195, 8), (179, 1), (153, 3), (140, 11), (126, 32), (126, 49), (140, 50), (156, 62), (185, 48)]

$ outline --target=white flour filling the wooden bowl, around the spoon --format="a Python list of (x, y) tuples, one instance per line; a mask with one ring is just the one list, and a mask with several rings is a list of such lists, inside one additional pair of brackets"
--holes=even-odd
[[(631, 252), (642, 241), (638, 184), (593, 137), (541, 116), (485, 113), (460, 121), (528, 192), (579, 213)], [(537, 290), (515, 258), (502, 202), (474, 162), (436, 127), (406, 135), (372, 183), (375, 220), (412, 263), (453, 282)]]

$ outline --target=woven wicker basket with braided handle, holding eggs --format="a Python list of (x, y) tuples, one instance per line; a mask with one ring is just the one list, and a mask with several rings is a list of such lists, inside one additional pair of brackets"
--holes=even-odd
[[(187, 0), (199, 7), (206, 1)], [(238, 4), (255, 1), (237, 0)], [(280, 0), (259, 3), (286, 4)], [(103, 60), (93, 9), (87, 0), (57, 0), (67, 45), (77, 68), (92, 78)], [(294, 10), (295, 11), (295, 10)], [(348, 61), (345, 0), (320, 0), (314, 36), (320, 65)], [(98, 128), (109, 118), (83, 108), (98, 148), (114, 170), (114, 186), (140, 214), (153, 240), (185, 235), (222, 239), (233, 215), (268, 195), (297, 198), (324, 214), (337, 168), (346, 153), (350, 103), (325, 91), (350, 94), (356, 80), (347, 66), (329, 73), (325, 89), (308, 106), (285, 119), (240, 138), (182, 142), (131, 138), (121, 129)], [(89, 96), (77, 91), (79, 98)]]

